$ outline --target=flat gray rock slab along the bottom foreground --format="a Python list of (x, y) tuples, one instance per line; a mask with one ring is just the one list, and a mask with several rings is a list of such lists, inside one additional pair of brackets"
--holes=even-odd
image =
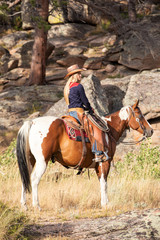
[(81, 219), (29, 226), (25, 235), (34, 239), (160, 240), (160, 209), (132, 211), (115, 217)]

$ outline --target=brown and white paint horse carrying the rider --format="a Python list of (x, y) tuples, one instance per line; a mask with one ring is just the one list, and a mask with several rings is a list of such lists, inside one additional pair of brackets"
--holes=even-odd
[[(86, 143), (87, 152), (82, 168), (94, 168), (100, 181), (101, 206), (106, 206), (107, 176), (113, 159), (116, 142), (128, 127), (151, 137), (153, 129), (142, 115), (138, 101), (133, 106), (121, 108), (119, 111), (103, 118), (110, 129), (105, 134), (108, 144), (108, 161), (96, 163), (91, 152), (90, 143)], [(22, 180), (21, 205), (26, 206), (26, 192), (32, 189), (32, 204), (39, 206), (38, 184), (44, 174), (47, 164), (54, 156), (65, 167), (75, 167), (82, 156), (82, 142), (69, 139), (64, 121), (53, 116), (39, 117), (26, 121), (17, 136), (17, 159)], [(33, 171), (32, 171), (33, 170)], [(31, 174), (32, 173), (32, 174)]]

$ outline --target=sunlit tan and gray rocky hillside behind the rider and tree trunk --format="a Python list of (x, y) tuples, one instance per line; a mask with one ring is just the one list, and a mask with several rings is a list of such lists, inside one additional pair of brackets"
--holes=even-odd
[[(1, 135), (4, 136), (6, 132), (12, 130), (17, 131), (23, 121), (35, 112), (38, 112), (37, 115), (32, 117), (39, 114), (56, 116), (66, 114), (67, 106), (63, 99), (66, 82), (64, 76), (66, 67), (76, 62), (80, 67), (88, 68), (83, 73), (82, 84), (92, 107), (99, 115), (117, 111), (123, 105), (131, 105), (139, 98), (143, 114), (154, 124), (156, 144), (158, 143), (159, 69), (138, 74), (137, 71), (117, 65), (115, 62), (111, 64), (105, 58), (106, 51), (112, 48), (117, 37), (110, 33), (105, 36), (102, 33), (90, 35), (93, 29), (95, 27), (83, 24), (60, 24), (51, 28), (46, 69), (48, 85), (42, 87), (24, 87), (30, 74), (27, 67), (32, 54), (33, 31), (22, 31), (0, 39), (0, 43), (6, 46), (0, 49), (0, 54), (4, 64), (3, 70), (7, 71), (0, 78)], [(117, 51), (116, 57), (120, 53), (122, 52)], [(112, 54), (114, 61), (115, 55)], [(129, 137), (128, 133), (124, 135), (126, 136)], [(137, 139), (137, 136), (130, 135), (130, 138)], [(120, 157), (121, 155), (120, 151)]]

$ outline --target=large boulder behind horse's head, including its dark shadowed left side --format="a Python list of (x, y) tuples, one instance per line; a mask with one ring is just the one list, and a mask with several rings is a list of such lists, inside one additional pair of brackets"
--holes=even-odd
[(140, 108), (147, 119), (160, 117), (160, 98), (157, 92), (160, 89), (159, 71), (154, 69), (120, 79), (102, 80), (101, 84), (109, 95), (110, 111), (133, 105), (139, 99)]

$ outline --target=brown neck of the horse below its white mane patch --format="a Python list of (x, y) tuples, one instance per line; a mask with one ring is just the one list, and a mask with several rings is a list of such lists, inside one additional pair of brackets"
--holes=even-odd
[(127, 123), (125, 120), (120, 119), (118, 112), (107, 116), (107, 119), (111, 134), (117, 142), (127, 128)]

